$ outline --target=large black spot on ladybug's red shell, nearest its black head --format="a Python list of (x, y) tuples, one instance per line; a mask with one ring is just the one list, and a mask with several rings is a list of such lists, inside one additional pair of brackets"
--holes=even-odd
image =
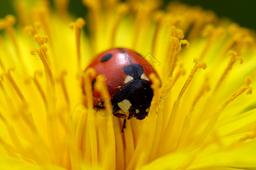
[(141, 65), (128, 65), (123, 66), (125, 74), (132, 76), (134, 79), (140, 79), (143, 74), (143, 68)]

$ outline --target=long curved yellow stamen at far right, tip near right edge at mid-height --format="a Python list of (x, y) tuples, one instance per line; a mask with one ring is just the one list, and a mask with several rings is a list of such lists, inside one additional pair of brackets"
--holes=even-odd
[(227, 101), (225, 101), (224, 104), (222, 104), (222, 106), (218, 109), (218, 111), (212, 115), (207, 126), (204, 128), (203, 133), (201, 133), (200, 138), (198, 138), (198, 140), (196, 141), (197, 144), (204, 142), (204, 140), (207, 138), (207, 135), (209, 134), (209, 132), (213, 129), (214, 125), (216, 124), (218, 117), (220, 117), (222, 111), (224, 111), (226, 106), (231, 101), (235, 100), (238, 96), (243, 94), (243, 92), (245, 92), (245, 91), (247, 91), (246, 94), (251, 94), (252, 88), (249, 86), (250, 84), (251, 84), (251, 76), (247, 76), (245, 78), (245, 84), (243, 84), (243, 86), (241, 86), (234, 95), (229, 97), (229, 99)]

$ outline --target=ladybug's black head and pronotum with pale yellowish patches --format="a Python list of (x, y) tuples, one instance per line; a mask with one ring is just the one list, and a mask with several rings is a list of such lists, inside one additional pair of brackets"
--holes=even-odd
[(148, 114), (153, 97), (153, 91), (150, 85), (150, 82), (143, 79), (135, 79), (125, 84), (113, 97), (114, 115), (125, 117), (125, 115), (122, 116), (117, 113), (121, 110), (126, 113), (129, 112), (129, 119), (135, 117), (138, 120), (143, 120)]

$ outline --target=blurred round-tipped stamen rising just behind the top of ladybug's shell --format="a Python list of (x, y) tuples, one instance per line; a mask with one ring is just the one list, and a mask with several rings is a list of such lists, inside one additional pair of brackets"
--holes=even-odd
[(126, 5), (126, 3), (122, 3), (121, 5), (118, 6), (117, 8), (117, 18), (114, 20), (113, 23), (113, 28), (112, 28), (112, 33), (111, 33), (111, 45), (112, 47), (114, 46), (114, 41), (115, 41), (115, 36), (117, 35), (117, 28), (118, 25), (120, 24), (123, 16), (125, 16), (125, 14), (128, 12), (128, 6)]

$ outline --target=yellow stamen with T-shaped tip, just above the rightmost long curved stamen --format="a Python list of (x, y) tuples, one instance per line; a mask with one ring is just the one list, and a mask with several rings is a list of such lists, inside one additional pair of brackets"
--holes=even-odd
[(224, 82), (224, 79), (226, 78), (226, 76), (228, 75), (229, 71), (232, 69), (234, 63), (239, 60), (240, 64), (242, 63), (242, 58), (240, 56), (237, 55), (236, 52), (234, 52), (233, 50), (229, 50), (228, 52), (228, 56), (230, 57), (230, 61), (228, 66), (226, 67), (224, 73), (221, 75), (221, 78), (218, 80), (218, 83), (216, 84), (213, 93), (216, 94), (216, 91), (218, 90), (218, 88), (220, 88), (221, 84)]

